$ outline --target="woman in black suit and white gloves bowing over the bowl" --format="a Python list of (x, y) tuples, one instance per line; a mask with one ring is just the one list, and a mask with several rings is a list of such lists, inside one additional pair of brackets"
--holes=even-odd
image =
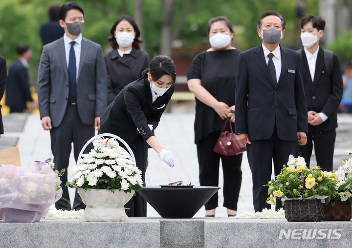
[[(100, 118), (102, 133), (115, 134), (131, 147), (136, 165), (143, 172), (143, 181), (148, 145), (162, 161), (175, 166), (171, 152), (163, 148), (153, 132), (174, 93), (175, 79), (174, 62), (167, 56), (156, 56), (143, 71), (142, 78), (124, 87)], [(147, 203), (138, 192), (125, 207), (131, 208), (128, 216), (147, 216)]]

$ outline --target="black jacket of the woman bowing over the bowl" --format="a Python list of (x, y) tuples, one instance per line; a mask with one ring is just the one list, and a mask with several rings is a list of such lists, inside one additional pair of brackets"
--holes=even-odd
[(100, 117), (101, 131), (115, 134), (129, 145), (140, 140), (141, 136), (144, 141), (154, 136), (148, 124), (152, 124), (155, 130), (174, 93), (174, 88), (172, 85), (153, 103), (147, 78), (140, 78), (128, 84), (103, 111)]

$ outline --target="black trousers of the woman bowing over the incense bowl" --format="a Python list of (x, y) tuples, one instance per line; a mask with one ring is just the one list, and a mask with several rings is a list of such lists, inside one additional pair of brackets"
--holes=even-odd
[[(119, 136), (118, 134), (116, 134)], [(128, 144), (134, 154), (136, 165), (142, 171), (143, 186), (145, 186), (145, 172), (148, 158), (148, 144), (145, 143), (142, 137)], [(131, 200), (125, 204), (125, 207), (130, 208), (126, 213), (129, 217), (146, 217), (147, 216), (147, 201), (138, 193), (132, 196)]]

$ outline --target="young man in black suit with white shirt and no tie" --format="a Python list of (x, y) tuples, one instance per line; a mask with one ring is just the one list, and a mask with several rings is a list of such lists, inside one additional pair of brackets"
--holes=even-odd
[(324, 28), (325, 21), (321, 17), (308, 15), (301, 21), (304, 49), (300, 53), (308, 108), (308, 133), (307, 145), (297, 147), (296, 155), (304, 157), (309, 167), (314, 142), (317, 165), (331, 171), (343, 81), (337, 55), (319, 46)]

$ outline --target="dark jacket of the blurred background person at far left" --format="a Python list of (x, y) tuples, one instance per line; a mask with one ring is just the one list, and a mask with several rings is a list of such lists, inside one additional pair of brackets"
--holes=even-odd
[(28, 70), (20, 60), (15, 61), (8, 72), (6, 84), (6, 105), (10, 109), (22, 112), (27, 109), (27, 102), (32, 102)]

